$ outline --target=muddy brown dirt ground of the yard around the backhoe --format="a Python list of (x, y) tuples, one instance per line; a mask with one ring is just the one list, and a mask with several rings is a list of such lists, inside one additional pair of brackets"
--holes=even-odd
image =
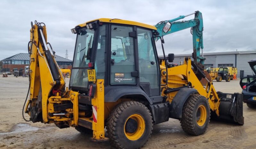
[[(235, 80), (214, 82), (214, 86), (217, 91), (227, 93), (242, 90), (239, 81)], [(108, 142), (91, 142), (91, 136), (82, 135), (74, 128), (59, 129), (54, 124), (25, 122), (21, 110), (27, 90), (28, 78), (0, 77), (0, 148), (112, 148)], [(255, 114), (256, 109), (243, 104), (243, 126), (211, 121), (201, 136), (186, 134), (178, 120), (169, 119), (154, 126), (143, 148), (256, 148)]]

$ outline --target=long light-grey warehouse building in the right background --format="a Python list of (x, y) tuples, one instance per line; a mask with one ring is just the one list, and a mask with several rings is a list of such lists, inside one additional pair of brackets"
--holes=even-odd
[[(173, 64), (183, 63), (184, 57), (191, 57), (192, 54), (175, 55)], [(256, 59), (256, 51), (231, 51), (204, 53), (206, 58), (205, 67), (236, 67), (237, 78), (252, 75), (252, 69), (247, 63), (251, 59)]]

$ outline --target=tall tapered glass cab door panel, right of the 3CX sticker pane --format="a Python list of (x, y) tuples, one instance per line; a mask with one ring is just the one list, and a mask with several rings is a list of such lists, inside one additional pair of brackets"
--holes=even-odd
[(152, 31), (137, 27), (140, 86), (148, 96), (160, 95), (160, 75)]

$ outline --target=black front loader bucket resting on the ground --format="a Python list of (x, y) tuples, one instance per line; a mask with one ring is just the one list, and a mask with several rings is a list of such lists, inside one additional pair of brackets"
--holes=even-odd
[(219, 116), (212, 112), (211, 119), (243, 125), (243, 95), (222, 92), (217, 92), (217, 94), (220, 98)]

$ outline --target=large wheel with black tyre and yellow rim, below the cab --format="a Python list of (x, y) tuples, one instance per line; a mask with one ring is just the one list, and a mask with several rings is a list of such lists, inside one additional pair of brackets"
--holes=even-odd
[(141, 148), (152, 133), (152, 116), (137, 101), (125, 101), (115, 107), (107, 121), (111, 145), (119, 149)]

